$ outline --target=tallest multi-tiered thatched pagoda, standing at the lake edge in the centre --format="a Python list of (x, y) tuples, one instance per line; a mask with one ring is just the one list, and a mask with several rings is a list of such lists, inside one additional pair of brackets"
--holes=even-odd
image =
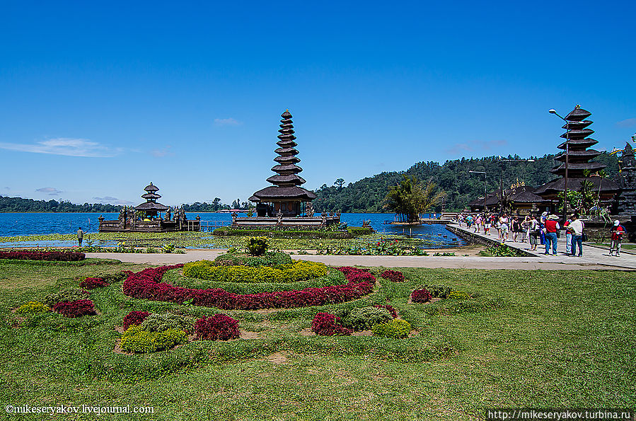
[(275, 217), (277, 215), (297, 217), (304, 212), (304, 204), (316, 199), (313, 192), (300, 187), (306, 182), (298, 175), (303, 171), (303, 168), (296, 165), (300, 159), (296, 157), (298, 151), (294, 149), (294, 146), (298, 144), (294, 142), (296, 136), (294, 136), (291, 113), (289, 110), (285, 110), (281, 117), (283, 119), (280, 120), (279, 142), (277, 142), (280, 147), (274, 151), (279, 156), (274, 158), (277, 165), (272, 167), (272, 171), (276, 175), (267, 178), (267, 181), (273, 185), (258, 190), (250, 197), (250, 201), (257, 203), (258, 217)]

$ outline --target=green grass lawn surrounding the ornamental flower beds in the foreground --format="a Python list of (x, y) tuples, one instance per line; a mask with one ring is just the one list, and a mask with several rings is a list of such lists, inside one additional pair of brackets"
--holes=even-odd
[[(218, 311), (130, 299), (118, 283), (93, 290), (97, 316), (43, 313), (16, 328), (11, 310), (20, 304), (86, 276), (143, 267), (0, 261), (2, 408), (130, 405), (152, 406), (154, 414), (100, 419), (322, 421), (475, 420), (497, 407), (636, 407), (632, 272), (407, 268), (407, 282), (378, 278), (374, 294), (347, 304), (225, 311), (258, 338), (195, 341), (154, 354), (112, 352), (120, 337), (115, 328), (129, 311)], [(164, 279), (191, 281), (178, 270)], [(407, 303), (423, 284), (475, 298)], [(404, 340), (300, 333), (319, 311), (376, 303), (394, 306), (419, 333)], [(50, 415), (28, 419), (43, 417)]]

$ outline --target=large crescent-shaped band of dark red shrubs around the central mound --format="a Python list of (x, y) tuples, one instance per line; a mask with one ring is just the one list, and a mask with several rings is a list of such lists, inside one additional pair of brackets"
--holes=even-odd
[(195, 306), (223, 308), (225, 310), (256, 310), (258, 308), (293, 308), (322, 306), (358, 299), (374, 289), (376, 278), (354, 268), (342, 270), (349, 281), (343, 285), (306, 288), (301, 291), (260, 292), (259, 294), (233, 294), (224, 289), (188, 289), (161, 282), (166, 271), (183, 265), (152, 267), (133, 273), (123, 284), (128, 296), (154, 301), (183, 303), (192, 300)]

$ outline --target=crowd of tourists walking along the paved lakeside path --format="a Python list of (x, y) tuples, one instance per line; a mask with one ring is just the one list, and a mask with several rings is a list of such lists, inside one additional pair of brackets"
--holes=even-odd
[[(557, 255), (557, 238), (561, 229), (565, 229), (565, 254), (581, 257), (585, 224), (578, 214), (572, 214), (561, 226), (559, 217), (543, 212), (540, 216), (509, 216), (507, 213), (491, 214), (458, 214), (455, 219), (460, 226), (466, 224), (474, 233), (490, 235), (497, 231), (497, 238), (502, 243), (513, 241), (529, 243), (530, 250), (537, 250), (538, 245), (545, 246), (546, 255)], [(618, 219), (613, 222), (611, 231), (610, 255), (620, 255), (620, 243), (623, 241), (625, 228)]]

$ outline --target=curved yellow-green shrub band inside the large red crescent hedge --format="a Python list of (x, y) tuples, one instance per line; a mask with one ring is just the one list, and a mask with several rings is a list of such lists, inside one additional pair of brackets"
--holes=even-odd
[(298, 282), (328, 275), (323, 263), (299, 261), (274, 267), (214, 266), (209, 260), (186, 263), (183, 275), (219, 282)]

